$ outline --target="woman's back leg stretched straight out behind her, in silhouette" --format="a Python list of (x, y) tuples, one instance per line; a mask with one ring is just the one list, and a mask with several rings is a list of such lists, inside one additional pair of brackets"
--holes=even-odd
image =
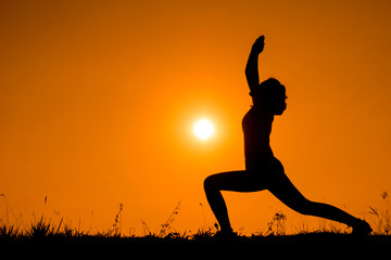
[(268, 190), (285, 205), (302, 214), (316, 216), (350, 226), (355, 226), (361, 223), (360, 219), (354, 218), (337, 207), (306, 199), (283, 172), (276, 174), (276, 179), (270, 183)]

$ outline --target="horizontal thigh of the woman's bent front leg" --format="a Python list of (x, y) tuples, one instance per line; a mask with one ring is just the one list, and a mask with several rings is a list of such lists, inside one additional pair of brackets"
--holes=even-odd
[(228, 171), (210, 176), (205, 179), (205, 188), (210, 186), (219, 191), (258, 192), (266, 188), (256, 173), (245, 170)]

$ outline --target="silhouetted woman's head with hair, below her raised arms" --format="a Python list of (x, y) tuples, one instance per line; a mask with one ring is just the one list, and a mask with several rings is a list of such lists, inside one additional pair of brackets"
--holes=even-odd
[(274, 115), (282, 115), (287, 108), (286, 88), (277, 79), (269, 78), (260, 83), (258, 88), (251, 90), (254, 105), (266, 104)]

